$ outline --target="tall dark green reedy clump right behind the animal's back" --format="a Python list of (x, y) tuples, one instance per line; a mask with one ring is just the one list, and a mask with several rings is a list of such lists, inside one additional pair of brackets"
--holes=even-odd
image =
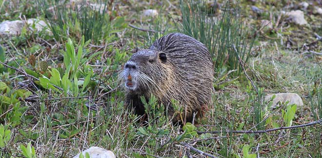
[(217, 70), (227, 67), (227, 70), (237, 70), (232, 75), (239, 76), (242, 72), (239, 58), (247, 63), (256, 39), (253, 36), (247, 39), (249, 30), (243, 26), (239, 5), (233, 6), (227, 1), (221, 9), (220, 20), (213, 16), (216, 8), (207, 8), (205, 0), (180, 0), (180, 9), (182, 23), (176, 24), (178, 31), (205, 44)]

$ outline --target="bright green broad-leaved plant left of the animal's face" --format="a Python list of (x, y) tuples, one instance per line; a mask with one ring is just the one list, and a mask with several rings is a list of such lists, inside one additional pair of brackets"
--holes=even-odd
[[(76, 53), (72, 40), (68, 39), (66, 51), (63, 52), (63, 67), (52, 68), (47, 76), (42, 75), (39, 78), (40, 85), (46, 89), (62, 90), (65, 96), (69, 93), (72, 93), (75, 97), (81, 96), (93, 75), (91, 68), (84, 66), (88, 59), (83, 58), (83, 47), (88, 43), (89, 41), (84, 42), (83, 37)], [(80, 69), (80, 66), (82, 69)], [(83, 81), (79, 80), (81, 76), (85, 77)], [(82, 85), (81, 90), (79, 89), (80, 85)]]

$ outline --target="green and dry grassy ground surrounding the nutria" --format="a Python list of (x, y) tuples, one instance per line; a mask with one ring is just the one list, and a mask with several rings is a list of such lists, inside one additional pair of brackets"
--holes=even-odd
[[(287, 39), (296, 40), (295, 47), (312, 42), (314, 38), (307, 35), (314, 36), (313, 30), (321, 26), (312, 30), (282, 18), (275, 28), (282, 4), (99, 1), (104, 15), (87, 5), (76, 12), (53, 1), (58, 7), (50, 16), (44, 7), (54, 4), (47, 2), (0, 0), (0, 6), (7, 6), (0, 7), (3, 20), (18, 20), (19, 12), (28, 18), (40, 16), (53, 33), (25, 28), (18, 37), (0, 37), (0, 61), (13, 67), (0, 64), (1, 158), (69, 158), (91, 146), (112, 150), (119, 158), (204, 157), (184, 147), (187, 144), (219, 158), (322, 157), (321, 124), (263, 134), (226, 131), (301, 125), (322, 118), (320, 55), (285, 46)], [(272, 16), (253, 13), (251, 5)], [(159, 10), (159, 16), (141, 18), (140, 11), (151, 8)], [(310, 10), (305, 18), (312, 24), (322, 20)], [(256, 29), (262, 19), (272, 20), (274, 28)], [(153, 31), (140, 31), (128, 23)], [(213, 103), (203, 119), (181, 129), (168, 121), (164, 106), (152, 97), (145, 100), (149, 123), (140, 126), (140, 117), (124, 109), (118, 74), (136, 47), (147, 48), (177, 31), (201, 40), (213, 56)], [(252, 36), (255, 31), (257, 38)], [(321, 42), (311, 49), (321, 52)], [(20, 66), (29, 79), (18, 71)], [(299, 94), (304, 106), (293, 113), (291, 105), (273, 108), (263, 99), (279, 92)], [(219, 132), (198, 134), (204, 131)]]

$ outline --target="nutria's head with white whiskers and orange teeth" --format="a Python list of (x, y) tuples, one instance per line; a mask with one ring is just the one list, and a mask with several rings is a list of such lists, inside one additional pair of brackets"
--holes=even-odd
[(125, 63), (121, 78), (125, 89), (142, 93), (160, 88), (165, 80), (169, 63), (163, 52), (143, 49), (132, 55)]

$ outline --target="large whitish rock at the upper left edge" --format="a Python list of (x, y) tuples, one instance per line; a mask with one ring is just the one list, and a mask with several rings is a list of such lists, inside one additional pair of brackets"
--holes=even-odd
[(14, 20), (14, 21), (3, 21), (0, 23), (0, 35), (1, 36), (17, 36), (21, 33), (22, 28), (25, 24), (29, 25), (29, 29), (33, 29), (32, 25), (35, 23), (35, 29), (33, 31), (41, 31), (46, 27), (46, 23), (43, 20), (28, 19), (28, 20)]

